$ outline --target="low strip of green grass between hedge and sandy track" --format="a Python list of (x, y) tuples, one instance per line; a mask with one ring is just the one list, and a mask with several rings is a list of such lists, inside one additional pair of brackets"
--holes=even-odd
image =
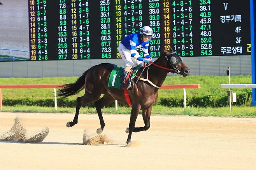
[[(131, 108), (119, 107), (103, 108), (102, 113), (130, 114)], [(75, 113), (75, 108), (54, 108), (38, 106), (3, 106), (2, 112), (32, 112), (32, 113)], [(82, 114), (97, 113), (95, 108), (82, 107)], [(140, 112), (141, 113), (141, 112)], [(225, 116), (225, 117), (252, 117), (256, 116), (256, 107), (233, 106), (232, 112), (228, 107), (223, 108), (168, 108), (165, 106), (153, 106), (152, 114), (160, 115), (186, 115), (186, 116)]]

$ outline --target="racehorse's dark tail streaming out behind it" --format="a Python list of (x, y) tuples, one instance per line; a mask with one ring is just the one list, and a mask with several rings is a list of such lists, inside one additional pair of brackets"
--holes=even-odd
[(57, 96), (61, 96), (65, 98), (70, 95), (75, 95), (79, 93), (82, 89), (84, 89), (84, 83), (85, 83), (84, 80), (85, 80), (86, 72), (84, 72), (84, 74), (81, 77), (79, 77), (75, 83), (65, 84), (61, 86), (61, 88), (57, 92)]

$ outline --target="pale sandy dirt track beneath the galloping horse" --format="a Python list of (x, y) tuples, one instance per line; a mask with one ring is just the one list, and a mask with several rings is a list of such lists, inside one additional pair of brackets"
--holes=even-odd
[(124, 147), (130, 115), (104, 114), (112, 142), (94, 146), (81, 144), (84, 129), (96, 135), (97, 114), (80, 114), (67, 128), (74, 114), (0, 113), (0, 134), (17, 116), (28, 136), (50, 132), (42, 143), (0, 142), (0, 169), (256, 169), (256, 118), (152, 116), (151, 128)]

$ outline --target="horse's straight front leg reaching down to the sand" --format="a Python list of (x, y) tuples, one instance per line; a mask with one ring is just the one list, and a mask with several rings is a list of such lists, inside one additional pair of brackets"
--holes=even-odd
[(138, 117), (139, 111), (140, 111), (140, 104), (132, 106), (130, 123), (129, 123), (129, 134), (128, 134), (128, 138), (127, 138), (126, 144), (131, 142), (132, 131), (133, 131), (134, 127), (135, 127), (135, 122), (136, 122), (136, 119)]

